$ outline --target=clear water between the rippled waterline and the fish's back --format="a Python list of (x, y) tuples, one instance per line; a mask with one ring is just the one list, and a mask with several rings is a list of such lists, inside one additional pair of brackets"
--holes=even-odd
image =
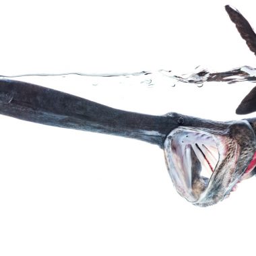
[(230, 120), (245, 117), (235, 115), (235, 109), (255, 86), (256, 69), (243, 66), (211, 71), (199, 66), (190, 73), (159, 69), (135, 73), (28, 73), (0, 78), (32, 82), (140, 113), (179, 112)]

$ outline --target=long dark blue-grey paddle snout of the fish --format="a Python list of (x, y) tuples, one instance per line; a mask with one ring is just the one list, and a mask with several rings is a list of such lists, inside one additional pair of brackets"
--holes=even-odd
[(0, 114), (25, 121), (140, 139), (162, 147), (172, 117), (144, 115), (98, 104), (65, 92), (20, 82), (0, 80)]

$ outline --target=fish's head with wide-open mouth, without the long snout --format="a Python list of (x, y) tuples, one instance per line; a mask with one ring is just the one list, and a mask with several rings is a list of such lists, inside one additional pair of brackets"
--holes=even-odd
[(199, 206), (228, 197), (255, 152), (247, 121), (214, 122), (184, 117), (164, 141), (168, 172), (178, 193)]

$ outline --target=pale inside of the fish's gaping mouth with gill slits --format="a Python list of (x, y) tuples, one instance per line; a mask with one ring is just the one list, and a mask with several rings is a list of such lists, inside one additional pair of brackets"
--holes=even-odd
[(220, 158), (220, 141), (206, 131), (179, 127), (164, 142), (166, 164), (177, 191), (190, 202), (199, 201)]

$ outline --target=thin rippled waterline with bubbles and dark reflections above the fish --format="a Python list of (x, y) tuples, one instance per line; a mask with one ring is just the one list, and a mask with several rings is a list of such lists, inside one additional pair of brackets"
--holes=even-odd
[[(196, 67), (191, 73), (178, 74), (170, 70), (160, 69), (158, 71), (141, 71), (135, 73), (28, 73), (22, 75), (0, 75), (0, 78), (18, 78), (18, 77), (36, 77), (36, 76), (60, 76), (67, 77), (69, 75), (79, 75), (84, 77), (92, 77), (96, 82), (92, 83), (96, 86), (102, 82), (103, 77), (115, 77), (120, 79), (120, 84), (125, 84), (127, 81), (136, 82), (146, 85), (148, 87), (156, 84), (165, 84), (174, 87), (176, 84), (197, 84), (198, 87), (203, 86), (205, 82), (226, 82), (228, 84), (235, 84), (237, 82), (256, 82), (256, 69), (249, 66), (237, 67), (228, 71), (212, 72), (203, 67)], [(97, 82), (97, 78), (101, 79)]]

